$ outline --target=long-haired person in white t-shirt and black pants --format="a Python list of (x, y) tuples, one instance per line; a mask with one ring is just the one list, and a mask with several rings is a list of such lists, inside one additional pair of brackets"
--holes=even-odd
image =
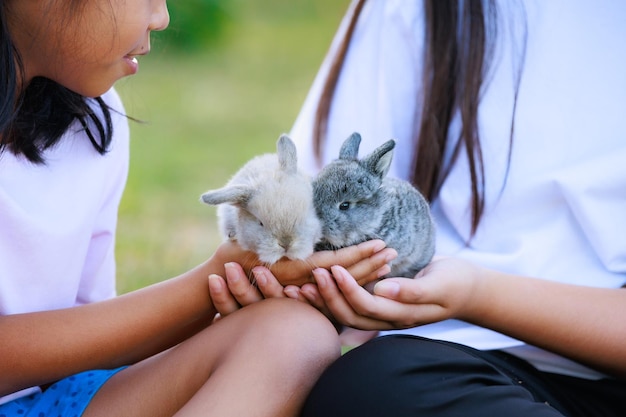
[(315, 173), (354, 131), (362, 154), (395, 139), (390, 175), (431, 201), (437, 257), (373, 294), (340, 267), (285, 288), (388, 335), (332, 365), (303, 415), (623, 415), (625, 20), (611, 0), (352, 2), (299, 160)]

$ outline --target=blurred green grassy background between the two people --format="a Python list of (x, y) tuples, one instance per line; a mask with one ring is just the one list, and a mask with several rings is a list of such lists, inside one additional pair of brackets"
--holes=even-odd
[(198, 201), (288, 132), (349, 0), (169, 2), (139, 74), (116, 84), (131, 122), (118, 291), (176, 276), (220, 241)]

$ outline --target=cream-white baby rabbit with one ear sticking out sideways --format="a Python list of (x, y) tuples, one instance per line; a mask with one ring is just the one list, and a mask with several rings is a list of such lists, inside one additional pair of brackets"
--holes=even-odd
[(276, 149), (276, 154), (252, 158), (226, 186), (201, 197), (219, 205), (222, 236), (267, 264), (308, 257), (321, 236), (311, 180), (298, 170), (295, 144), (283, 134)]

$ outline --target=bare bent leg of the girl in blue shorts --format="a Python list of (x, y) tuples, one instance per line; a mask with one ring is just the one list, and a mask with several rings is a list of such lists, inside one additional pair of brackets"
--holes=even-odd
[(295, 416), (338, 355), (336, 331), (321, 313), (265, 300), (119, 372), (84, 415)]

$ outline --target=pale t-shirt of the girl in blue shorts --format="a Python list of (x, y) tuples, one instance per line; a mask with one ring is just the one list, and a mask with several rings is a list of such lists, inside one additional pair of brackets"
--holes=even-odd
[(115, 227), (129, 132), (117, 93), (103, 99), (115, 109), (113, 141), (104, 156), (79, 123), (45, 152), (45, 165), (9, 151), (0, 155), (0, 315), (116, 294)]

